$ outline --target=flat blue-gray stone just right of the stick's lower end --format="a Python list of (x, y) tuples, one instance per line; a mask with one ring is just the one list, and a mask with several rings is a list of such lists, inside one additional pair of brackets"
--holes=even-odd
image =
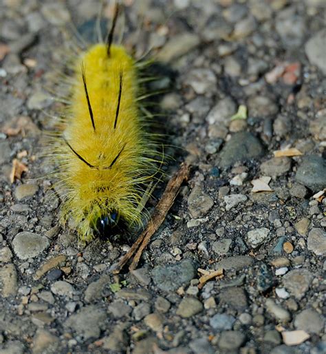
[(191, 260), (173, 265), (157, 266), (153, 269), (153, 281), (163, 291), (175, 291), (195, 278), (196, 269)]

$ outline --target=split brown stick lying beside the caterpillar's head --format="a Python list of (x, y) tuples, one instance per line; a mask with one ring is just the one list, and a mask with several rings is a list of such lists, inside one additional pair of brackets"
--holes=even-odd
[(157, 203), (151, 220), (146, 226), (146, 229), (144, 229), (139, 238), (131, 246), (131, 249), (121, 258), (116, 269), (113, 270), (114, 274), (120, 273), (122, 267), (124, 267), (124, 264), (126, 264), (128, 260), (131, 259), (139, 247), (135, 257), (133, 258), (133, 262), (129, 267), (129, 270), (131, 271), (138, 266), (138, 262), (142, 256), (142, 251), (144, 251), (144, 248), (147, 246), (147, 244), (149, 244), (149, 240), (151, 240), (151, 237), (155, 231), (162, 225), (162, 222), (165, 220), (166, 214), (168, 214), (169, 209), (172, 207), (182, 182), (188, 179), (189, 169), (190, 167), (186, 165), (186, 163), (183, 163), (176, 174), (171, 178), (171, 180), (169, 180), (162, 198)]

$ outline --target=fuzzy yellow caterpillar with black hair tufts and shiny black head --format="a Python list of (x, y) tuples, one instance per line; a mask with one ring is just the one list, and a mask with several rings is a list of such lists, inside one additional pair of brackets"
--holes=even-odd
[(73, 218), (85, 241), (142, 225), (157, 172), (156, 143), (140, 113), (138, 65), (112, 43), (117, 17), (118, 6), (107, 42), (74, 61), (65, 129), (52, 147), (61, 220)]

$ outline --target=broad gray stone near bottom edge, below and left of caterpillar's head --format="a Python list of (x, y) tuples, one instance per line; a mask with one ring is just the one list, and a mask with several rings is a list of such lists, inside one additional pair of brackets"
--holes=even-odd
[(96, 339), (100, 336), (102, 326), (107, 319), (107, 313), (98, 306), (89, 305), (71, 315), (63, 324), (65, 329), (72, 329), (84, 340)]

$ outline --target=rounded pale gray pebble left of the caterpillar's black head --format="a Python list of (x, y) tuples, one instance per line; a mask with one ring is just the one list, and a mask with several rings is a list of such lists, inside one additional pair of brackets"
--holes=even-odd
[(14, 253), (21, 260), (35, 258), (50, 246), (49, 240), (41, 235), (29, 231), (17, 233), (12, 241)]

